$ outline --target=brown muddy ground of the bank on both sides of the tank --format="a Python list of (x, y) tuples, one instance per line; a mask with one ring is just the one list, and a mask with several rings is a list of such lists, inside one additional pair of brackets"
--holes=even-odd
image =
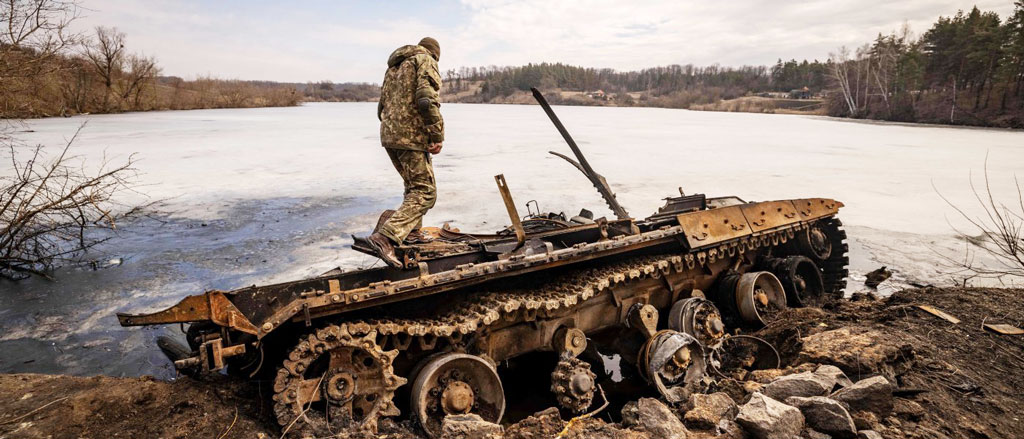
[[(920, 304), (961, 321), (954, 324), (928, 314), (914, 307)], [(886, 438), (1020, 438), (1024, 336), (982, 327), (993, 322), (1024, 324), (1024, 291), (920, 289), (883, 300), (855, 295), (825, 310), (786, 311), (756, 333), (778, 349), (781, 369), (725, 370), (716, 376), (713, 387), (741, 405), (765, 377), (829, 363), (853, 381), (881, 375), (897, 385), (892, 413), (855, 416), (859, 430), (870, 429)], [(258, 396), (266, 393), (263, 387), (224, 377), (161, 382), (5, 375), (0, 376), (0, 438), (279, 437), (281, 431)], [(685, 407), (673, 409), (684, 418)], [(564, 437), (647, 438), (664, 433), (651, 426), (610, 422), (618, 419), (617, 413), (598, 413), (573, 423)], [(548, 411), (506, 425), (504, 437), (554, 437), (566, 421)], [(404, 423), (381, 429), (383, 437), (415, 434)], [(690, 427), (688, 437), (745, 435)]]

